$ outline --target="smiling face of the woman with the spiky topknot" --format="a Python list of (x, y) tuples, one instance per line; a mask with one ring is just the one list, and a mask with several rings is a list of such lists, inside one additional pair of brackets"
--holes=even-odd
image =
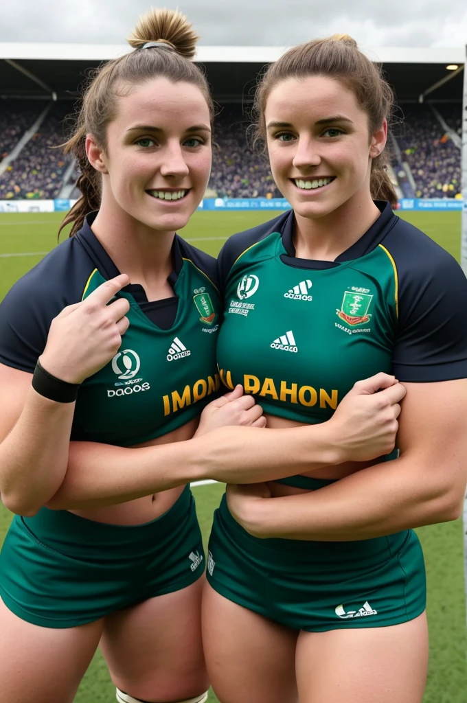
[(203, 198), (211, 169), (210, 112), (200, 89), (153, 79), (117, 98), (105, 150), (87, 137), (103, 174), (103, 204), (150, 228), (184, 227)]

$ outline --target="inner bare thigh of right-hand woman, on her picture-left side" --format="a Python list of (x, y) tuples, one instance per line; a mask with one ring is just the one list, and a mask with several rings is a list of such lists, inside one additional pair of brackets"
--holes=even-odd
[(221, 703), (297, 703), (297, 636), (206, 584), (203, 643), (207, 673)]

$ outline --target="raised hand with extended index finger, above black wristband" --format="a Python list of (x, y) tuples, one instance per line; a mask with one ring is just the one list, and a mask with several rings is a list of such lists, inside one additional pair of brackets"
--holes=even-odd
[(113, 359), (128, 329), (129, 302), (117, 298), (108, 303), (128, 284), (129, 277), (121, 273), (53, 318), (39, 357), (46, 371), (68, 383), (82, 383)]

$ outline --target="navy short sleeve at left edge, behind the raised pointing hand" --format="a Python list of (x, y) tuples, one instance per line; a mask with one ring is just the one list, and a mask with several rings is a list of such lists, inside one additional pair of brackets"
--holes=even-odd
[(0, 363), (33, 373), (51, 321), (82, 299), (95, 268), (74, 237), (20, 278), (0, 304)]

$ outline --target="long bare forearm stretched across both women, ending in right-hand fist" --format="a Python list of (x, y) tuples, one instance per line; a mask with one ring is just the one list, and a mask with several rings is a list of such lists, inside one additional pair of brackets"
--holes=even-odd
[[(381, 388), (384, 390), (377, 392)], [(174, 444), (124, 449), (72, 442), (63, 483), (47, 506), (56, 510), (96, 508), (198, 479), (254, 483), (345, 460), (370, 460), (394, 448), (399, 400), (404, 394), (404, 387), (393, 376), (379, 373), (357, 382), (333, 418), (320, 425), (267, 432), (257, 427), (220, 427), (207, 432), (212, 427), (210, 418), (207, 434)], [(205, 408), (200, 426), (218, 402)], [(245, 408), (254, 404), (251, 396), (237, 402)], [(234, 410), (231, 422), (222, 420), (222, 424), (247, 423)]]

